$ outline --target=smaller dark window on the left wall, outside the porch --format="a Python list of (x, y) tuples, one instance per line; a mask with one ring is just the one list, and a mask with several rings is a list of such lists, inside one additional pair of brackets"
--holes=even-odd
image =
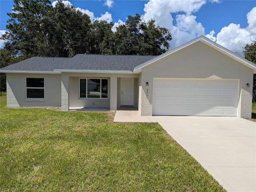
[(26, 98), (44, 99), (43, 77), (26, 77)]

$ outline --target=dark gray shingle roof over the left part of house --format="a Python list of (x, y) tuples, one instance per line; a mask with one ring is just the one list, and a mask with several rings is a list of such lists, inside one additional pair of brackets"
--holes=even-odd
[(32, 57), (9, 65), (1, 71), (110, 70), (133, 71), (134, 67), (156, 55), (93, 55), (78, 54), (72, 58)]

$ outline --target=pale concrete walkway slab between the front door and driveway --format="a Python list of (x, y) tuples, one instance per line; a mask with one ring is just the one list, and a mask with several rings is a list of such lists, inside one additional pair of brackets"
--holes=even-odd
[(156, 120), (153, 116), (140, 116), (138, 111), (119, 110), (116, 111), (114, 122), (156, 122)]

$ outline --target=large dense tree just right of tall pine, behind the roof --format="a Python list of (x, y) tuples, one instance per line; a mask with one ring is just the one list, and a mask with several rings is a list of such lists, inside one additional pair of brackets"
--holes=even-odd
[(89, 49), (91, 21), (88, 15), (58, 0), (42, 20), (41, 53), (50, 57), (74, 57)]

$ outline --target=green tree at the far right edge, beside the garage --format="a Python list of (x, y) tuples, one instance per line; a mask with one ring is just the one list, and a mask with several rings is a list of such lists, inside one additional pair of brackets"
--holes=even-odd
[[(252, 43), (247, 43), (244, 46), (244, 58), (251, 61), (252, 63), (256, 64), (256, 39), (252, 41)], [(253, 102), (256, 102), (256, 74), (253, 75), (253, 88), (252, 88), (252, 95), (253, 95)]]

